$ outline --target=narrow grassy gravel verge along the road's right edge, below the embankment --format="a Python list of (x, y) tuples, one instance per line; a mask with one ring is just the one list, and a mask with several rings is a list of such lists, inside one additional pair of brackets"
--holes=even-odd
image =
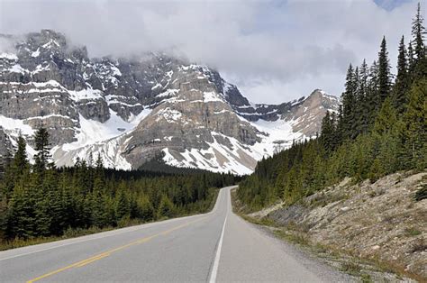
[(331, 246), (313, 243), (310, 241), (304, 227), (299, 227), (295, 224), (280, 226), (268, 218), (259, 219), (246, 215), (244, 207), (237, 199), (236, 189), (232, 190), (232, 209), (235, 214), (241, 216), (244, 220), (262, 226), (278, 239), (295, 244), (303, 251), (308, 251), (309, 254), (313, 254), (317, 259), (361, 282), (413, 281), (412, 279), (425, 282), (423, 278), (415, 274), (408, 274), (393, 264), (376, 259), (362, 259), (352, 254), (351, 251), (341, 251)]

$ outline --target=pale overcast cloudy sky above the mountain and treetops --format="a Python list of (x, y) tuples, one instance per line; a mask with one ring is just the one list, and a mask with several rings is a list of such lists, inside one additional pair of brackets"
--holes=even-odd
[(383, 35), (395, 65), (415, 11), (411, 0), (0, 0), (0, 33), (57, 30), (91, 57), (173, 52), (252, 102), (280, 103), (314, 88), (340, 96), (349, 63), (370, 64)]

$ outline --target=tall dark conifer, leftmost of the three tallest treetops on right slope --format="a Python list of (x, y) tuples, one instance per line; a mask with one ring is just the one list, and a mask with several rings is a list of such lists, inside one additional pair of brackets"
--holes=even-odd
[(378, 95), (377, 111), (380, 109), (386, 97), (390, 95), (391, 76), (388, 51), (386, 49), (386, 37), (381, 41), (381, 50), (378, 53)]

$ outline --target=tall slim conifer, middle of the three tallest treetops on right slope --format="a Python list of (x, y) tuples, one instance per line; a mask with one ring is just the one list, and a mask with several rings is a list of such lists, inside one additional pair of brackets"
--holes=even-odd
[(397, 76), (393, 88), (393, 105), (398, 114), (404, 112), (404, 106), (407, 103), (406, 91), (408, 90), (408, 63), (406, 60), (406, 49), (404, 48), (404, 36), (399, 44), (399, 55), (397, 57)]

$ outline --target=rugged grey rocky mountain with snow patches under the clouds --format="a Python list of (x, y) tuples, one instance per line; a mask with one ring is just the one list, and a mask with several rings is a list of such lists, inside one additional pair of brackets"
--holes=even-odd
[(220, 74), (164, 54), (90, 59), (50, 30), (1, 35), (0, 154), (48, 128), (52, 156), (69, 166), (90, 153), (108, 167), (161, 158), (178, 167), (250, 173), (257, 160), (320, 130), (335, 96), (314, 90), (281, 105), (252, 105)]

